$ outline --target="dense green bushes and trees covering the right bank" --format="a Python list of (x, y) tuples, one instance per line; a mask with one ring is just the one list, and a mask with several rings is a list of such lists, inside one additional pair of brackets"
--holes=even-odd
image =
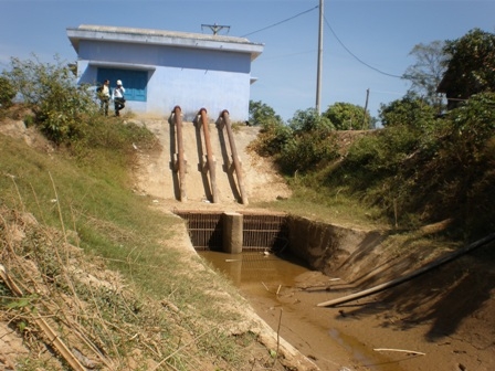
[[(322, 117), (310, 109), (297, 112), (287, 125), (267, 119), (253, 148), (274, 157), (302, 202), (329, 209), (360, 204), (365, 219), (399, 229), (449, 221), (452, 239), (493, 232), (495, 75), (488, 46), (494, 42), (494, 34), (475, 30), (456, 41), (417, 46), (421, 61), (432, 63), (431, 73), (418, 70), (422, 63), (408, 70), (414, 88), (382, 105), (383, 128), (370, 130), (348, 150), (340, 148), (343, 132), (336, 128), (350, 129), (343, 123), (352, 114), (338, 116), (341, 104)], [(465, 94), (455, 93), (464, 100), (439, 115), (445, 107), (435, 98), (442, 63), (451, 88), (462, 85)]]

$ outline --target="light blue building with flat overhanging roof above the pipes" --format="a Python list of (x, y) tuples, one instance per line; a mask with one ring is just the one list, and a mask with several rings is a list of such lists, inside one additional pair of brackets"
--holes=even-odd
[(232, 121), (249, 117), (251, 63), (264, 45), (244, 38), (104, 25), (67, 28), (77, 53), (77, 81), (97, 85), (120, 80), (136, 113), (185, 119), (200, 108), (211, 118), (228, 109)]

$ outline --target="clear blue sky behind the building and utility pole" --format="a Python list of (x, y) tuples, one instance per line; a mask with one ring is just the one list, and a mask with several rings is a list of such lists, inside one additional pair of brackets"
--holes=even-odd
[[(11, 56), (43, 62), (76, 59), (67, 26), (101, 24), (229, 35), (265, 45), (252, 64), (251, 99), (284, 119), (315, 107), (319, 0), (0, 0), (0, 68)], [(495, 32), (495, 0), (325, 0), (320, 108), (336, 102), (365, 106), (401, 98), (398, 78), (414, 63), (415, 44), (455, 40), (474, 28)], [(224, 32), (222, 33), (224, 34)], [(378, 71), (377, 71), (378, 70)], [(180, 103), (178, 103), (180, 104)]]

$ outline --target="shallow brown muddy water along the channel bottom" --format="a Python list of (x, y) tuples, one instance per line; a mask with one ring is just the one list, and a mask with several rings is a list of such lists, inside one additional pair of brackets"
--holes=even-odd
[(357, 325), (356, 319), (346, 316), (345, 310), (316, 306), (343, 296), (326, 289), (330, 284), (338, 285), (338, 277), (327, 277), (301, 262), (265, 253), (200, 255), (240, 288), (261, 318), (322, 370), (403, 370), (399, 361), (373, 351), (352, 336), (350, 327)]

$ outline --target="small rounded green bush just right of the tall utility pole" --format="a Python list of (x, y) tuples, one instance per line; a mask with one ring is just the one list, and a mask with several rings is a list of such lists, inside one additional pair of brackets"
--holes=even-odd
[(337, 130), (366, 130), (371, 124), (369, 113), (350, 103), (338, 102), (328, 106), (323, 116), (328, 118)]

